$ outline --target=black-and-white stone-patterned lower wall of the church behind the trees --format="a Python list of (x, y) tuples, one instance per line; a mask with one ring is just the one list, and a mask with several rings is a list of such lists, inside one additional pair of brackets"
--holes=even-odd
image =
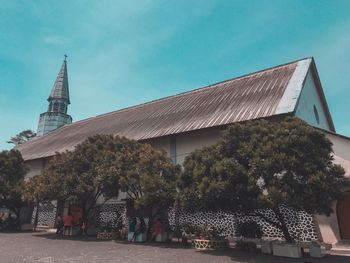
[[(36, 207), (33, 211), (32, 222), (34, 222)], [(313, 222), (313, 217), (306, 212), (295, 212), (294, 210), (282, 207), (281, 211), (286, 219), (287, 226), (296, 240), (300, 241), (312, 241), (317, 240), (317, 231)], [(276, 217), (271, 210), (261, 210), (269, 220), (275, 221)], [(56, 206), (53, 204), (41, 204), (39, 208), (39, 223), (38, 225), (53, 227), (55, 223)], [(175, 210), (170, 209), (169, 224), (175, 226)], [(279, 229), (265, 222), (261, 218), (256, 216), (244, 216), (234, 213), (225, 212), (196, 212), (186, 213), (184, 211), (178, 211), (178, 221), (180, 225), (190, 224), (194, 226), (214, 226), (217, 229), (222, 230), (223, 236), (234, 237), (236, 235), (236, 226), (239, 223), (246, 221), (257, 222), (263, 232), (264, 237), (282, 237), (282, 233)], [(91, 214), (91, 224), (96, 227), (102, 225), (110, 225), (116, 227), (118, 224), (128, 225), (126, 218), (126, 206), (124, 204), (104, 204), (95, 207)], [(146, 222), (147, 223), (147, 222)]]

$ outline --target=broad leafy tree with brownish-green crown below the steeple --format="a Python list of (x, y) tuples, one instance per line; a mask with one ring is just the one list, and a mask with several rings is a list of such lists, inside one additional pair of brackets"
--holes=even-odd
[(37, 188), (34, 197), (78, 205), (83, 219), (87, 219), (98, 199), (107, 201), (118, 196), (120, 171), (115, 162), (123, 148), (134, 143), (125, 138), (96, 135), (77, 145), (74, 151), (57, 153), (35, 178), (42, 187)]

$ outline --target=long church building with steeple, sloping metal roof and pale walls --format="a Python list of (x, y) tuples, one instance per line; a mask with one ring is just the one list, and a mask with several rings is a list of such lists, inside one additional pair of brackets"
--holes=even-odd
[[(144, 104), (72, 122), (67, 115), (69, 90), (67, 62), (63, 62), (48, 98), (48, 111), (40, 115), (38, 135), (18, 146), (30, 167), (28, 176), (40, 174), (56, 152), (73, 150), (96, 134), (113, 134), (147, 142), (166, 150), (174, 163), (186, 155), (217, 142), (220, 132), (235, 122), (295, 116), (323, 131), (333, 142), (334, 161), (350, 177), (350, 138), (335, 131), (313, 58), (304, 58), (213, 85), (161, 98)], [(121, 203), (118, 203), (121, 205)], [(116, 209), (111, 206), (112, 210)], [(114, 208), (113, 208), (114, 207)], [(234, 234), (234, 216), (205, 215), (206, 220)], [(300, 240), (336, 243), (350, 238), (350, 195), (334, 204), (330, 217), (298, 213), (288, 216), (289, 226)], [(186, 221), (188, 215), (182, 215)], [(201, 224), (203, 215), (191, 222)], [(263, 225), (267, 236), (278, 230)]]

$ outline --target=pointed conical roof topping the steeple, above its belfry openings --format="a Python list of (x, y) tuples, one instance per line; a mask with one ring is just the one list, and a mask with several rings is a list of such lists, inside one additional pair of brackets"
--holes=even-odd
[(69, 101), (69, 88), (68, 88), (68, 74), (67, 74), (67, 55), (64, 55), (64, 61), (61, 66), (60, 72), (57, 75), (55, 84), (51, 90), (48, 101), (52, 99), (64, 99)]

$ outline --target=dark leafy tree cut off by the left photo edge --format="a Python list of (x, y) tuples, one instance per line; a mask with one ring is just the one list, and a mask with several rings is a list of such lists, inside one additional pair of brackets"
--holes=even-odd
[(27, 169), (22, 155), (17, 150), (0, 152), (0, 208), (7, 208), (19, 215), (25, 202), (22, 200), (22, 187)]

